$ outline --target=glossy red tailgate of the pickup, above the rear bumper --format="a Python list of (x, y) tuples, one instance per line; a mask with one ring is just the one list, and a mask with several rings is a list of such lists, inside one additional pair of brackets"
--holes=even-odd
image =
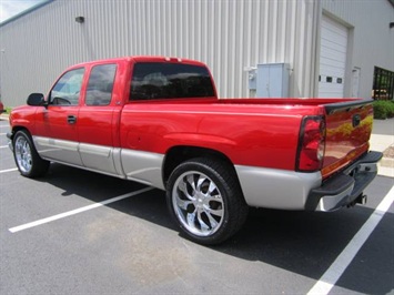
[(325, 104), (326, 140), (323, 179), (354, 162), (368, 150), (373, 123), (372, 100)]

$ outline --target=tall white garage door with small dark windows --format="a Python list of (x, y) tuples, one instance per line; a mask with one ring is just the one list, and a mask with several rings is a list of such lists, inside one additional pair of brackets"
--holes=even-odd
[(321, 51), (320, 51), (320, 98), (343, 98), (347, 28), (325, 16), (322, 19)]

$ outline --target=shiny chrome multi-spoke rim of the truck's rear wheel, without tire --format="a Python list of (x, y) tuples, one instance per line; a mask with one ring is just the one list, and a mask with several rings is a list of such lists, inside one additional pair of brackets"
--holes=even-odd
[(204, 173), (188, 171), (181, 174), (173, 186), (172, 205), (178, 220), (196, 236), (210, 236), (223, 223), (222, 194)]

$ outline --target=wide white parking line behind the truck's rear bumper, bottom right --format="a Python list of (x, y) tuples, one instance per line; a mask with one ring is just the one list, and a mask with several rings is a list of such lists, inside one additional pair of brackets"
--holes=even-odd
[(394, 202), (394, 186), (307, 294), (329, 294)]

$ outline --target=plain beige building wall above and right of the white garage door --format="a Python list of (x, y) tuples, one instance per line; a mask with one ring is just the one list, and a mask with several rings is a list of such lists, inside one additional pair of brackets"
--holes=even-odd
[[(350, 29), (345, 95), (356, 92), (361, 98), (371, 98), (374, 67), (394, 71), (394, 29), (390, 29), (394, 20), (393, 4), (387, 0), (322, 0), (322, 9)], [(357, 71), (360, 81), (353, 79), (353, 70)], [(352, 89), (353, 81), (360, 91)]]

